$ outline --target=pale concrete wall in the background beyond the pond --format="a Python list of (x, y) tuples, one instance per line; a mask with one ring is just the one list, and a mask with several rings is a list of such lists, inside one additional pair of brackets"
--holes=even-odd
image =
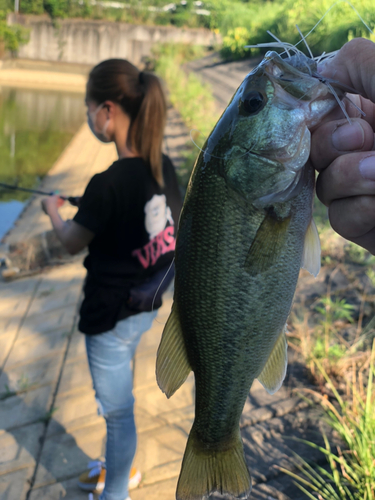
[(48, 16), (10, 14), (8, 23), (30, 28), (30, 41), (21, 47), (19, 57), (45, 61), (97, 64), (112, 58), (125, 58), (139, 64), (150, 55), (156, 43), (182, 42), (213, 45), (215, 35), (206, 29), (141, 26), (106, 21), (65, 19), (55, 27)]

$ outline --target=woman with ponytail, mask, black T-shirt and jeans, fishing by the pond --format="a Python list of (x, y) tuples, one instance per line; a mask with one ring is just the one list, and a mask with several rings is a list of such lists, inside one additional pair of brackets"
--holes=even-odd
[(94, 67), (86, 91), (88, 124), (119, 159), (94, 175), (72, 221), (61, 219), (57, 196), (42, 201), (62, 244), (88, 246), (79, 329), (99, 412), (107, 424), (106, 469), (87, 471), (79, 486), (104, 490), (100, 500), (125, 500), (136, 450), (131, 360), (156, 316), (152, 297), (170, 267), (181, 207), (173, 165), (162, 155), (166, 105), (158, 78), (126, 60)]

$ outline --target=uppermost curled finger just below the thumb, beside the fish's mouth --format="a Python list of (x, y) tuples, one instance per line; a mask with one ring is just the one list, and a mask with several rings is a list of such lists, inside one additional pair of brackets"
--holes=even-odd
[(350, 151), (371, 151), (374, 148), (374, 130), (366, 121), (353, 118), (323, 123), (311, 137), (311, 161), (321, 171), (337, 157)]

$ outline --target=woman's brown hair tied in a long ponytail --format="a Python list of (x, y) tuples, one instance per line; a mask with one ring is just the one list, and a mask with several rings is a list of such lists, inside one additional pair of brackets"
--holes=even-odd
[(130, 116), (128, 146), (140, 153), (163, 186), (161, 147), (167, 107), (159, 78), (140, 72), (125, 59), (108, 59), (91, 70), (87, 99), (98, 104), (113, 101)]

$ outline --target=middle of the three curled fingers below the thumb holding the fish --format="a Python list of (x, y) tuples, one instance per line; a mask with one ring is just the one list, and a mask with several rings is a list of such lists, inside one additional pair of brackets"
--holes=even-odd
[(341, 198), (375, 195), (375, 153), (339, 156), (319, 174), (316, 193), (326, 206)]

